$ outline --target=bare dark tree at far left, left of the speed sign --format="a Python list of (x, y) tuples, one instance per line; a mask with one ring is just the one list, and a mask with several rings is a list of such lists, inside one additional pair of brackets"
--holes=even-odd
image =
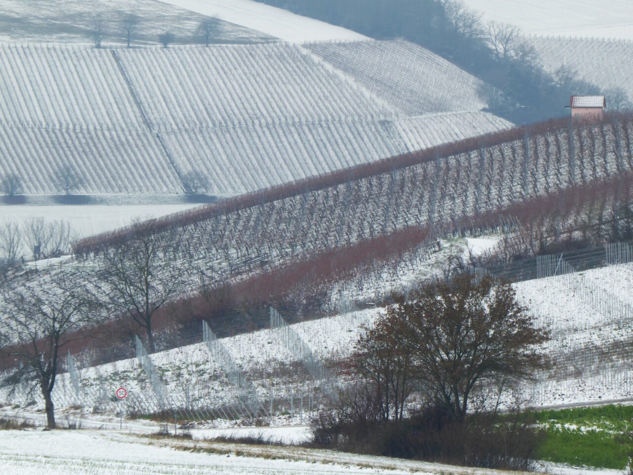
[(99, 305), (85, 287), (70, 276), (55, 274), (45, 286), (20, 286), (4, 294), (10, 309), (0, 325), (0, 355), (13, 369), (6, 383), (39, 388), (46, 407), (47, 426), (56, 427), (53, 389), (63, 346), (73, 333), (99, 320)]

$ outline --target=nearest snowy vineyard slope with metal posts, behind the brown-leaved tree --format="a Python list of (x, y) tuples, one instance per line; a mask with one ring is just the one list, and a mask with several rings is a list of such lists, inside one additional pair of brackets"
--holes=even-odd
[[(632, 251), (622, 255), (633, 258)], [(568, 273), (514, 284), (520, 303), (552, 336), (546, 345), (551, 369), (523, 386), (520, 396), (534, 406), (630, 398), (633, 262), (572, 272), (559, 260), (557, 267)], [(137, 358), (96, 367), (84, 367), (80, 357), (66, 359), (72, 371), (60, 376), (53, 395), (60, 408), (115, 412), (112, 396), (123, 386), (127, 410), (135, 414), (178, 409), (189, 417), (234, 419), (254, 410), (300, 419), (345, 386), (337, 362), (381, 314), (382, 308), (356, 310), (285, 326), (272, 310), (271, 326), (260, 331), (215, 339), (201, 328), (201, 343), (149, 356), (141, 344)], [(8, 391), (2, 390), (8, 403), (41, 405), (35, 393)]]

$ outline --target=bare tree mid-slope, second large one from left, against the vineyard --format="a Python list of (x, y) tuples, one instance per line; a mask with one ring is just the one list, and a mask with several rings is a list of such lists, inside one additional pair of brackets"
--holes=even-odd
[[(132, 229), (141, 229), (146, 224), (136, 221)], [(111, 307), (145, 329), (153, 352), (156, 345), (152, 319), (182, 291), (185, 266), (176, 261), (174, 250), (169, 236), (139, 232), (125, 246), (103, 251), (104, 293), (110, 296)]]

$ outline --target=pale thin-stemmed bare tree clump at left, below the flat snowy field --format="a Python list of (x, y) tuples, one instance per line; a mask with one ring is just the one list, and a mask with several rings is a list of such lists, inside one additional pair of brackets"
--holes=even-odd
[(35, 259), (59, 257), (68, 252), (75, 239), (68, 222), (44, 218), (30, 220), (24, 225), (22, 234)]

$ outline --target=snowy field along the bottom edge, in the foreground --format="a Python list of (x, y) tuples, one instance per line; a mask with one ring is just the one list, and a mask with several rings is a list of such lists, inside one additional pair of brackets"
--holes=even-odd
[(500, 473), (330, 450), (148, 439), (104, 431), (2, 431), (0, 464), (3, 475)]

